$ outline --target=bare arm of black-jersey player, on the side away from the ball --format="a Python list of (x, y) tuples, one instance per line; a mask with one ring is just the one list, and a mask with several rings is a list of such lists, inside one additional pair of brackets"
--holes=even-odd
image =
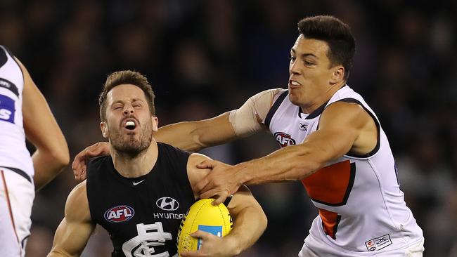
[(79, 183), (68, 195), (65, 217), (56, 230), (48, 257), (79, 256), (94, 231), (87, 200), (86, 181)]

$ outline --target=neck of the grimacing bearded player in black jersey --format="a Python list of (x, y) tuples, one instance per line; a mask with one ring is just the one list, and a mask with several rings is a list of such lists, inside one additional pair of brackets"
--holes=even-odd
[(111, 149), (111, 152), (116, 171), (126, 178), (138, 178), (149, 173), (157, 162), (158, 156), (157, 142), (154, 138), (149, 147), (135, 157), (114, 149)]

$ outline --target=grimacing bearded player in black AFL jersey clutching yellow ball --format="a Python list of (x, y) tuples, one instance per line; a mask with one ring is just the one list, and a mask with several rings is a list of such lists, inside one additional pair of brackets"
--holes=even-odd
[[(112, 157), (89, 163), (87, 180), (70, 192), (48, 256), (79, 256), (96, 224), (110, 233), (112, 256), (177, 256), (179, 224), (198, 198), (196, 183), (209, 172), (196, 164), (209, 158), (156, 143), (154, 93), (138, 72), (108, 77), (100, 115)], [(236, 256), (257, 241), (266, 216), (247, 187), (227, 207), (235, 220), (231, 233), (223, 239), (194, 233), (202, 248), (181, 256)]]

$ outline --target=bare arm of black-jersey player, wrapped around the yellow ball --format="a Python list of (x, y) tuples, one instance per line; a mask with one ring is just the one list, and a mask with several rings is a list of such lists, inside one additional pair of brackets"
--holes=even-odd
[[(202, 154), (192, 154), (188, 160), (188, 178), (195, 198), (199, 195), (195, 190), (196, 183), (210, 172), (210, 170), (196, 169), (195, 165), (205, 159), (209, 158)], [(267, 221), (262, 207), (250, 190), (245, 186), (240, 187), (227, 208), (233, 217), (233, 230), (222, 238), (207, 232), (195, 232), (192, 236), (202, 238), (205, 244), (199, 251), (181, 253), (181, 256), (237, 256), (257, 242), (266, 228)]]

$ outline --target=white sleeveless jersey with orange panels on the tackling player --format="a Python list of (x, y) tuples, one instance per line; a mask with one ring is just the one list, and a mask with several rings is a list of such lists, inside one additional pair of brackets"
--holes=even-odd
[[(372, 256), (405, 248), (423, 238), (423, 232), (404, 202), (389, 142), (373, 110), (361, 95), (343, 86), (318, 110), (304, 114), (290, 103), (288, 91), (278, 93), (265, 119), (281, 147), (300, 144), (318, 129), (323, 110), (337, 101), (361, 105), (378, 127), (378, 144), (370, 153), (350, 152), (302, 179), (318, 216), (305, 239), (311, 249), (321, 242), (319, 254)], [(312, 237), (309, 239), (309, 237)], [(318, 249), (316, 246), (315, 249)]]

